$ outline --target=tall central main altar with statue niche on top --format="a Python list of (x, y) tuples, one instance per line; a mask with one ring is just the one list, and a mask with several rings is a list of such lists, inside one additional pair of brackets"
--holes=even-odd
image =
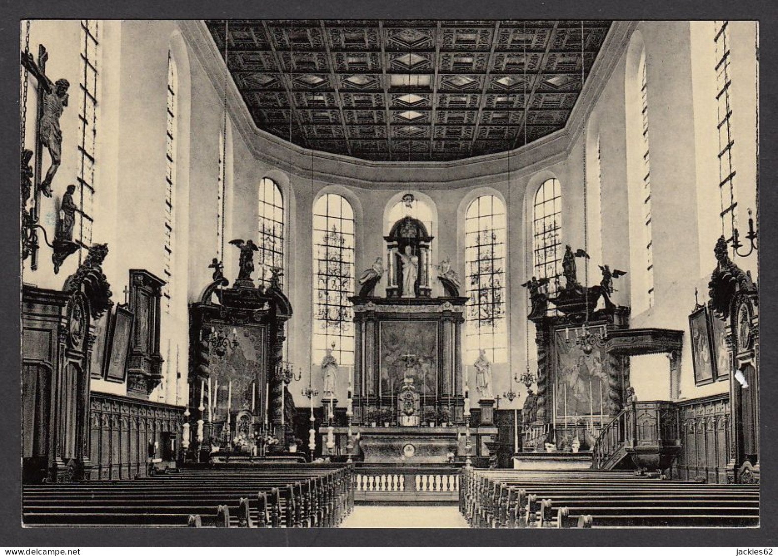
[(370, 463), (444, 463), (467, 452), (461, 344), (464, 305), (450, 266), (438, 266), (445, 294), (432, 297), (432, 237), (419, 220), (394, 224), (387, 245), (386, 296), (378, 259), (354, 304), (353, 450)]

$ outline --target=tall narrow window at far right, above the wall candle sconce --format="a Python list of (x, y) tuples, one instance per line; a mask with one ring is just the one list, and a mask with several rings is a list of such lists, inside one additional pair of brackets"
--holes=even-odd
[(719, 157), (719, 196), (721, 200), (721, 234), (725, 238), (732, 238), (734, 228), (737, 227), (736, 209), (738, 203), (735, 200), (734, 191), (734, 165), (732, 164), (732, 104), (730, 98), (730, 50), (727, 21), (715, 23), (716, 43), (716, 104), (718, 108), (718, 157)]

